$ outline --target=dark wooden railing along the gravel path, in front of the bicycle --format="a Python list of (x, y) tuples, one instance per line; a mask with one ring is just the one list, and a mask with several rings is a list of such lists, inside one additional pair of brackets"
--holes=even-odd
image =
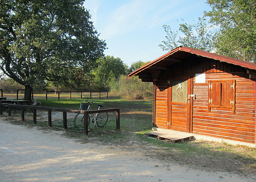
[(67, 129), (67, 113), (80, 113), (84, 115), (84, 134), (88, 135), (88, 115), (91, 113), (102, 113), (102, 112), (116, 112), (116, 129), (120, 129), (120, 108), (114, 109), (101, 109), (101, 110), (91, 110), (91, 111), (80, 111), (72, 109), (62, 109), (62, 108), (49, 108), (40, 107), (32, 105), (17, 105), (17, 104), (4, 104), (0, 103), (0, 115), (3, 115), (3, 107), (8, 107), (8, 116), (11, 117), (12, 108), (20, 108), (21, 110), (21, 120), (25, 121), (25, 109), (31, 109), (33, 112), (33, 123), (37, 124), (37, 110), (48, 111), (48, 126), (52, 127), (52, 111), (63, 112), (63, 128)]

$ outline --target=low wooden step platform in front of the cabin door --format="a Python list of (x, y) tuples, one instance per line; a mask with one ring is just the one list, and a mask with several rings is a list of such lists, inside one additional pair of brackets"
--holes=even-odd
[(145, 133), (144, 136), (157, 136), (157, 140), (169, 140), (170, 143), (180, 143), (195, 138), (192, 133), (174, 131), (171, 129), (152, 128), (152, 130), (153, 131)]

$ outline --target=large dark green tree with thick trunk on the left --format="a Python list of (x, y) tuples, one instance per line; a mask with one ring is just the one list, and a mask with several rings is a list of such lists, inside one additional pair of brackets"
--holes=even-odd
[(1, 70), (25, 86), (26, 100), (47, 81), (90, 77), (106, 43), (89, 19), (82, 0), (0, 1)]

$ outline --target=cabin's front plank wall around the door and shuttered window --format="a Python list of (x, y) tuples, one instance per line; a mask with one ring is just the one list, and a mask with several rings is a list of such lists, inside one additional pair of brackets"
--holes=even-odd
[[(195, 83), (196, 73), (206, 73), (206, 83)], [(168, 128), (168, 78), (184, 74), (193, 77), (192, 94), (196, 95), (191, 103), (193, 133), (255, 143), (255, 81), (249, 79), (241, 66), (196, 55), (161, 71), (156, 82), (156, 127)], [(208, 111), (209, 80), (236, 80), (235, 113), (227, 108)]]

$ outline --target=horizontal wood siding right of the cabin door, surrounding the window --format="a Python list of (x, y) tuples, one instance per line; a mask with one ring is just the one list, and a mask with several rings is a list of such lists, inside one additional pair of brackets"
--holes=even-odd
[[(232, 69), (232, 67), (230, 68)], [(211, 108), (208, 112), (208, 81), (236, 80), (236, 110)], [(239, 72), (206, 73), (206, 83), (193, 80), (193, 133), (242, 142), (255, 142), (255, 82), (248, 74)]]

